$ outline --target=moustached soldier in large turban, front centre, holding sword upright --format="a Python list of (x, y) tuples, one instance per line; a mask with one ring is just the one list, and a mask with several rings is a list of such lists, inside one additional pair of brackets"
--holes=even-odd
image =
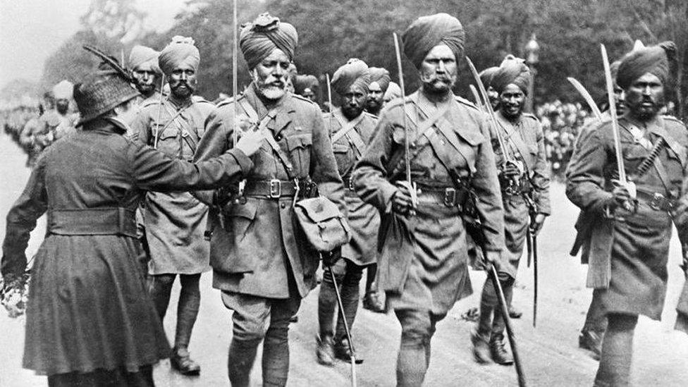
[[(422, 85), (405, 104), (398, 99), (386, 107), (354, 172), (356, 192), (382, 217), (378, 277), (401, 324), (398, 386), (422, 384), (437, 322), (472, 292), (461, 221), (469, 191), (478, 198), (486, 259), (496, 261), (504, 244), (489, 128), (474, 105), (451, 91), (464, 43), (461, 23), (446, 13), (423, 16), (407, 28), (404, 53)], [(415, 207), (405, 180), (405, 121)]]

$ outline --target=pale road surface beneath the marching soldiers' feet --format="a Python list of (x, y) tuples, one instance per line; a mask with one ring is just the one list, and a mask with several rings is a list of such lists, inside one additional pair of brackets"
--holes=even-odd
[[(0, 230), (4, 236), (4, 216), (23, 189), (30, 171), (25, 156), (6, 135), (0, 135)], [(597, 363), (577, 348), (577, 336), (584, 320), (591, 292), (584, 288), (585, 271), (567, 252), (574, 238), (575, 207), (563, 194), (563, 186), (553, 185), (554, 216), (545, 224), (540, 243), (540, 296), (538, 327), (532, 327), (532, 269), (520, 267), (514, 302), (524, 311), (515, 320), (524, 368), (530, 386), (591, 386)], [(44, 222), (32, 235), (27, 255), (35, 252), (44, 233)], [(672, 331), (682, 275), (677, 269), (680, 249), (672, 245), (669, 295), (663, 321), (641, 317), (635, 341), (633, 381), (635, 386), (686, 386), (688, 380), (688, 336)], [(516, 386), (512, 367), (481, 366), (470, 352), (472, 323), (460, 315), (479, 302), (484, 274), (471, 274), (475, 293), (458, 302), (448, 317), (438, 324), (433, 339), (432, 360), (426, 386)], [(180, 376), (164, 361), (155, 369), (158, 386), (227, 386), (226, 358), (231, 338), (231, 312), (211, 288), (210, 275), (202, 278), (202, 305), (190, 350), (202, 365), (198, 378)], [(178, 285), (173, 295), (177, 300)], [(299, 312), (300, 321), (290, 331), (291, 365), (288, 386), (349, 386), (350, 368), (338, 363), (329, 368), (317, 364), (314, 356), (317, 334), (317, 289), (307, 297)], [(172, 337), (176, 307), (171, 306), (164, 321)], [(9, 319), (0, 311), (0, 387), (46, 386), (44, 377), (21, 369), (24, 319)], [(357, 351), (364, 364), (357, 368), (359, 386), (393, 386), (400, 326), (392, 314), (362, 310), (353, 329)], [(260, 355), (260, 354), (259, 354)], [(260, 362), (252, 381), (260, 385)]]

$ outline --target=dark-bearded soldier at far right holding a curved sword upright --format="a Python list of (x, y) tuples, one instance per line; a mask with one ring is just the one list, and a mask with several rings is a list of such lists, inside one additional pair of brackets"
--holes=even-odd
[[(606, 313), (596, 386), (627, 386), (638, 315), (661, 319), (667, 283), (672, 214), (685, 227), (688, 132), (675, 118), (660, 116), (668, 92), (666, 42), (624, 56), (616, 80), (627, 111), (619, 118), (623, 165), (630, 183), (618, 179), (610, 120), (581, 139), (567, 170), (567, 197), (587, 216), (579, 233), (589, 235), (588, 278)], [(679, 219), (680, 218), (680, 219)], [(591, 230), (587, 230), (591, 228)]]

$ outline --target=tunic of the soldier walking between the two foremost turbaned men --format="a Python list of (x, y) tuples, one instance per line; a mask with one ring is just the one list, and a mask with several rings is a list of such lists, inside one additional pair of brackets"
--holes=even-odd
[[(323, 118), (325, 119), (325, 127), (333, 135), (342, 130), (342, 123), (349, 122), (348, 118), (343, 116), (341, 109), (336, 109), (333, 115), (325, 113)], [(362, 112), (351, 123), (355, 123), (355, 125), (348, 132), (348, 135), (343, 135), (343, 137), (340, 137), (332, 144), (339, 174), (344, 181), (344, 198), (348, 211), (347, 220), (351, 227), (351, 241), (342, 247), (342, 257), (359, 266), (365, 266), (376, 262), (377, 232), (380, 227), (380, 215), (375, 207), (363, 202), (356, 195), (351, 178), (354, 164), (360, 159), (365, 147), (367, 147), (373, 136), (377, 117)], [(351, 125), (351, 123), (348, 123), (348, 125)]]

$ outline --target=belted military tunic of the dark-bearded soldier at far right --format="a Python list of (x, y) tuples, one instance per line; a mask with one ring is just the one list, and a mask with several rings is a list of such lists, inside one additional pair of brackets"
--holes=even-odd
[[(605, 204), (612, 196), (617, 164), (611, 122), (598, 123), (579, 144), (575, 164), (567, 172), (567, 197), (586, 220), (579, 232), (587, 235), (589, 262), (587, 285), (601, 290), (601, 304), (607, 312), (644, 314), (660, 319), (666, 295), (667, 262), (672, 219), (666, 209), (651, 205), (655, 194), (670, 199), (684, 195), (688, 131), (675, 118), (656, 116), (643, 124), (627, 115), (619, 119), (620, 140), (629, 180), (637, 185), (637, 209), (622, 207), (608, 216)], [(646, 139), (666, 146), (658, 154), (661, 169), (648, 168), (639, 176), (638, 167), (650, 150), (633, 128), (646, 128)], [(662, 171), (662, 173), (658, 172)], [(664, 175), (665, 178), (661, 176)], [(616, 218), (616, 219), (615, 219)]]

